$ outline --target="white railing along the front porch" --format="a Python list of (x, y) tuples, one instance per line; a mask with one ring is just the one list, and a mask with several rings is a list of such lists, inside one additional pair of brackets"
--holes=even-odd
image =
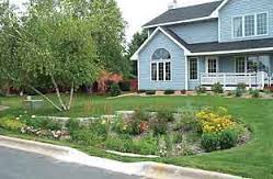
[(268, 82), (265, 81), (266, 76), (268, 75), (263, 71), (259, 71), (258, 74), (201, 74), (201, 85), (213, 86), (219, 82), (225, 89), (234, 89), (238, 83), (246, 83), (248, 88), (258, 87), (259, 89), (263, 89)]

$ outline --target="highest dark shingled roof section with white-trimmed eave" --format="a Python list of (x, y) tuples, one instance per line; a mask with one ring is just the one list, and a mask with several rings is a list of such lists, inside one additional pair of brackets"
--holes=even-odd
[(170, 9), (161, 15), (155, 18), (150, 22), (146, 23), (144, 27), (152, 27), (164, 24), (175, 24), (180, 22), (204, 20), (217, 18), (212, 14), (224, 4), (224, 1), (214, 1), (192, 7), (183, 7), (177, 9)]

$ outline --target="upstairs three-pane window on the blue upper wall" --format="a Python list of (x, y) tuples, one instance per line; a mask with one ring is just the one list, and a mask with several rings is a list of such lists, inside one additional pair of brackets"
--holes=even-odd
[(232, 22), (234, 37), (266, 35), (269, 33), (268, 13), (235, 16)]

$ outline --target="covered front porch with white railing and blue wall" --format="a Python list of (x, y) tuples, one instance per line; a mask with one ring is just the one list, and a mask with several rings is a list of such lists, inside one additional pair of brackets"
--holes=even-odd
[(219, 82), (225, 90), (235, 90), (239, 83), (248, 89), (271, 87), (272, 54), (213, 55), (189, 57), (189, 89), (197, 86), (211, 90)]

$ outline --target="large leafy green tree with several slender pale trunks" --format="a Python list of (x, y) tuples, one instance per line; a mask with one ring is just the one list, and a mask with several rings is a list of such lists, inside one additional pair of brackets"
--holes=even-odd
[[(8, 24), (2, 29), (2, 38), (11, 38), (15, 44), (1, 44), (2, 49), (10, 49), (0, 59), (4, 76), (19, 85), (26, 83), (59, 111), (69, 110), (75, 88), (93, 82), (101, 70), (95, 42), (90, 33), (92, 24), (77, 16), (72, 10), (73, 7), (65, 0), (33, 0), (27, 16), (11, 19), (10, 13), (7, 15)], [(39, 77), (50, 79), (60, 107), (31, 85)], [(60, 97), (60, 85), (70, 86), (67, 104)]]

